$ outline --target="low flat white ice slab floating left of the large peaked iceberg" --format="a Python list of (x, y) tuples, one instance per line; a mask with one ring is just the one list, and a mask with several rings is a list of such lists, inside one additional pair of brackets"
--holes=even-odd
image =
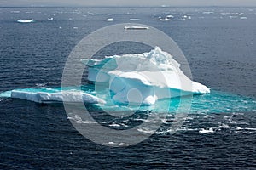
[(103, 99), (76, 90), (55, 90), (51, 88), (25, 88), (10, 91), (10, 97), (15, 99), (26, 99), (37, 103), (77, 103), (81, 99), (85, 104), (105, 104)]

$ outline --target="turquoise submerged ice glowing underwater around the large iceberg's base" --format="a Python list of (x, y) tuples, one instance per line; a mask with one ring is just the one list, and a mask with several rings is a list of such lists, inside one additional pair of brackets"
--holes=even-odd
[[(256, 99), (248, 98), (241, 95), (224, 93), (212, 90), (211, 94), (194, 95), (192, 98), (173, 98), (173, 99), (161, 99), (154, 105), (119, 105), (113, 102), (111, 99), (111, 93), (106, 89), (104, 91), (94, 91), (94, 86), (86, 85), (82, 87), (69, 87), (69, 88), (22, 88), (15, 89), (15, 91), (24, 92), (27, 94), (46, 93), (54, 94), (60, 93), (61, 90), (75, 91), (90, 94), (96, 98), (106, 101), (106, 103), (95, 104), (95, 109), (104, 111), (154, 111), (154, 112), (166, 112), (166, 108), (169, 113), (176, 113), (177, 108), (181, 102), (191, 104), (189, 113), (232, 113), (232, 112), (256, 112)], [(0, 94), (0, 98), (11, 98), (12, 91), (3, 92)], [(29, 97), (27, 98), (28, 100)], [(55, 103), (55, 101), (48, 102)]]

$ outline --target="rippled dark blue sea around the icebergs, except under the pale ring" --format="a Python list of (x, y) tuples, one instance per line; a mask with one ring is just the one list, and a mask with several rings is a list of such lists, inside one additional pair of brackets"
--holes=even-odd
[[(167, 15), (172, 21), (158, 21)], [(20, 19), (35, 21), (18, 23)], [(82, 38), (128, 22), (154, 26), (172, 37), (188, 60), (193, 80), (207, 85), (212, 94), (195, 97), (176, 133), (170, 131), (175, 115), (169, 114), (156, 133), (137, 129), (152, 134), (148, 139), (130, 146), (124, 141), (123, 147), (111, 139), (101, 145), (85, 138), (72, 121), (85, 126), (94, 122), (66, 114), (62, 104), (0, 98), (0, 169), (256, 167), (256, 8), (0, 8), (0, 93), (61, 87), (67, 57)], [(120, 42), (96, 55), (148, 50), (146, 45)], [(88, 108), (102, 126), (117, 130), (147, 122), (152, 114), (137, 111), (119, 120)]]

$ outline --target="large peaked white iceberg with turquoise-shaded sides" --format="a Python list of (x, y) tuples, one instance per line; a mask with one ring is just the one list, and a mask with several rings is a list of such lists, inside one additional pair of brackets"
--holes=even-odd
[(158, 47), (149, 53), (81, 61), (88, 66), (88, 80), (109, 83), (112, 99), (120, 104), (154, 105), (158, 99), (210, 93), (209, 88), (186, 77), (172, 55)]

